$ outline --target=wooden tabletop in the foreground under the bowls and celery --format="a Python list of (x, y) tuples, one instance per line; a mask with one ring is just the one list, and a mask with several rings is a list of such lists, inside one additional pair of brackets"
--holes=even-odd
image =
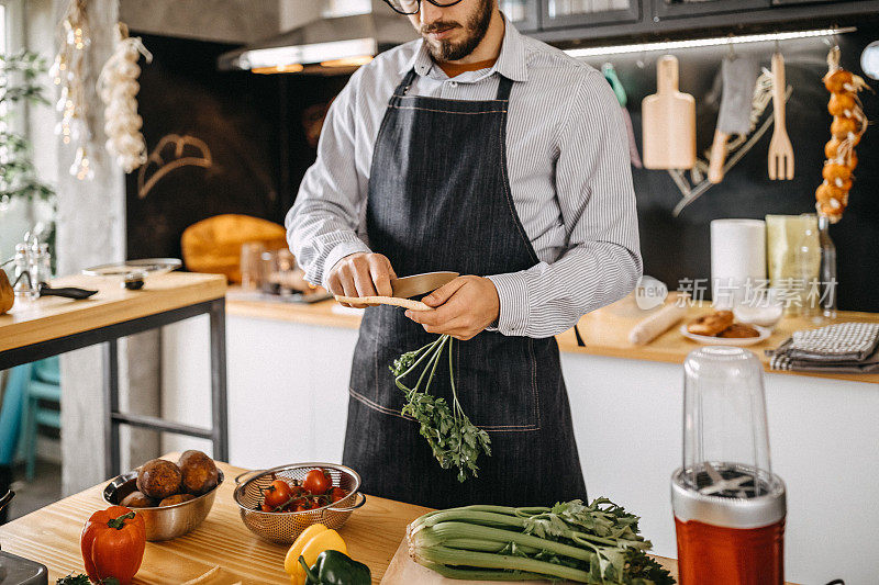
[[(177, 453), (165, 455), (170, 460), (177, 457)], [(234, 477), (245, 470), (220, 462), (218, 466), (223, 470), (225, 481), (218, 488), (208, 518), (183, 537), (167, 542), (147, 542), (134, 583), (180, 585), (219, 566), (216, 575), (203, 585), (289, 585), (290, 578), (283, 572), (288, 548), (259, 539), (241, 521), (233, 499)], [(108, 506), (101, 496), (103, 486), (96, 485), (0, 526), (0, 547), (46, 565), (49, 583), (71, 572), (82, 573), (79, 535), (88, 517)], [(366, 505), (352, 514), (340, 533), (351, 556), (369, 565), (372, 583), (379, 584), (405, 536), (407, 525), (429, 510), (369, 496)], [(677, 575), (676, 561), (657, 559)]]

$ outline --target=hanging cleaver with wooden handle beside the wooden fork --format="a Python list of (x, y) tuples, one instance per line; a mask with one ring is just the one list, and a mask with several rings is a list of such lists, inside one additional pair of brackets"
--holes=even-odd
[(757, 70), (756, 60), (734, 53), (724, 57), (721, 65), (723, 95), (708, 170), (708, 179), (714, 184), (723, 180), (726, 140), (733, 134), (747, 134), (750, 130), (750, 109)]

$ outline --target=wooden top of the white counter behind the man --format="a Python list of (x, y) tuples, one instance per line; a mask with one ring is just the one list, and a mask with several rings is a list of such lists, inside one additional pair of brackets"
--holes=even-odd
[[(578, 324), (580, 335), (586, 341), (586, 347), (578, 347), (574, 335), (574, 329), (569, 329), (558, 335), (558, 346), (561, 351), (575, 353), (589, 353), (593, 356), (607, 356), (611, 358), (625, 358), (635, 360), (660, 361), (667, 363), (683, 363), (687, 355), (699, 347), (678, 333), (680, 323), (660, 335), (645, 346), (634, 346), (628, 342), (628, 331), (635, 324), (644, 318), (645, 314), (636, 307), (633, 308), (631, 300), (624, 299), (613, 305), (609, 305), (599, 311), (593, 311), (583, 315)], [(243, 301), (235, 299), (235, 290), (231, 290), (226, 299), (226, 313), (241, 317), (288, 320), (318, 325), (326, 327), (346, 327), (356, 329), (360, 325), (360, 315), (351, 313), (338, 313), (334, 310), (338, 306), (334, 301), (322, 301), (313, 304), (285, 303), (280, 301)], [(690, 310), (688, 319), (692, 319), (710, 311), (710, 307), (698, 304)], [(763, 361), (766, 371), (769, 370), (769, 360), (765, 357), (765, 349), (772, 349), (781, 345), (785, 339), (798, 329), (812, 329), (831, 323), (843, 323), (847, 320), (865, 320), (879, 323), (879, 314), (856, 313), (841, 311), (833, 320), (812, 323), (802, 317), (785, 317), (772, 331), (772, 335), (765, 341), (749, 346)], [(835, 380), (853, 380), (856, 382), (867, 382), (879, 384), (879, 374), (843, 374), (843, 373), (806, 373), (806, 372), (786, 372), (774, 370), (772, 373), (787, 375), (805, 375), (816, 378), (828, 378)]]

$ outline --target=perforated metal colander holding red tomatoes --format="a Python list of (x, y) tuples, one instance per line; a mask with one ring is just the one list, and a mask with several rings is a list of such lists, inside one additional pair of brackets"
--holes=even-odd
[[(323, 469), (333, 479), (333, 485), (342, 487), (348, 495), (334, 504), (305, 511), (262, 511), (255, 509), (263, 500), (262, 490), (277, 479), (302, 482), (313, 469)], [(245, 475), (252, 475), (245, 479)], [(235, 503), (241, 509), (241, 519), (251, 532), (278, 544), (292, 544), (302, 530), (313, 524), (326, 528), (341, 528), (355, 509), (366, 504), (360, 494), (360, 476), (351, 468), (332, 463), (294, 463), (264, 471), (248, 471), (235, 477)], [(357, 502), (357, 496), (360, 500)]]

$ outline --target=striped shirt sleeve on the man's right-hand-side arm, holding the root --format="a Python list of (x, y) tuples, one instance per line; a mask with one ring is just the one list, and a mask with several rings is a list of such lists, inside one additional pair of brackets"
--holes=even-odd
[(628, 294), (642, 274), (628, 136), (601, 74), (586, 76), (558, 131), (556, 196), (567, 235), (556, 261), (488, 277), (498, 330), (549, 337)]

